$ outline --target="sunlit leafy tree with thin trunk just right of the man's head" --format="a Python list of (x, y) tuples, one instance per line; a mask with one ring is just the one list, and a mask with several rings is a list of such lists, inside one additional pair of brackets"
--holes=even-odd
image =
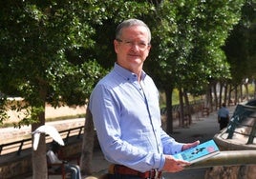
[(228, 73), (220, 48), (238, 22), (243, 2), (155, 1), (149, 21), (153, 54), (146, 68), (166, 93), (167, 132), (172, 132), (172, 102), (167, 96), (174, 88), (202, 91), (210, 80)]

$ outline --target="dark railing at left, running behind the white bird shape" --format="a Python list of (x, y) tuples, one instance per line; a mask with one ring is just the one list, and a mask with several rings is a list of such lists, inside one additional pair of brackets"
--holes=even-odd
[[(80, 135), (82, 134), (84, 127), (77, 127), (73, 129), (65, 129), (59, 131), (61, 137), (63, 138), (65, 143), (68, 143), (69, 139), (72, 136), (76, 135), (76, 138), (78, 139)], [(46, 135), (46, 142), (50, 143), (53, 139), (49, 135)], [(32, 138), (23, 139), (15, 142), (11, 142), (8, 144), (2, 144), (0, 145), (0, 156), (4, 154), (9, 154), (11, 152), (16, 152), (16, 155), (20, 155), (23, 149), (29, 149), (32, 148)]]

